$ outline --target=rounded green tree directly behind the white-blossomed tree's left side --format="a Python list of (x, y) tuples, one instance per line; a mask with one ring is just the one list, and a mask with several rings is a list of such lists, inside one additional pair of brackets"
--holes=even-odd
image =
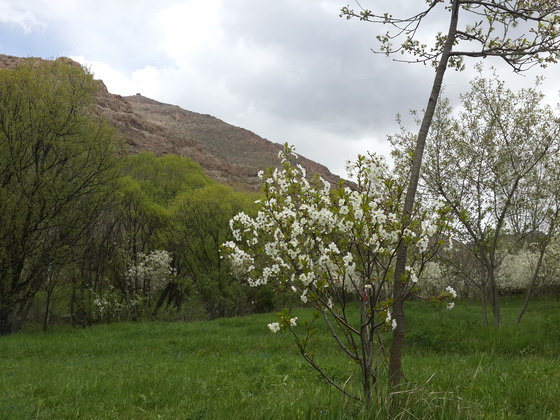
[(233, 239), (230, 220), (242, 211), (251, 213), (254, 201), (247, 193), (213, 184), (181, 194), (172, 207), (168, 237), (177, 274), (192, 282), (210, 318), (271, 309), (271, 299), (263, 299), (267, 292), (255, 296), (253, 288), (232, 275), (220, 252)]

